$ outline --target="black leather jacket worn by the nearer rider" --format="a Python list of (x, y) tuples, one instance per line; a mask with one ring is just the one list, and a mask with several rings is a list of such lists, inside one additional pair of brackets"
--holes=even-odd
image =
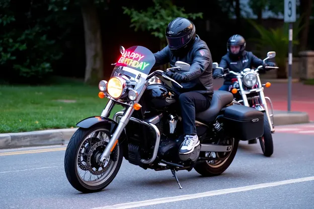
[(196, 35), (193, 46), (184, 57), (175, 56), (168, 46), (159, 52), (154, 53), (156, 63), (154, 66), (170, 63), (171, 67), (175, 66), (176, 61), (182, 61), (190, 64), (189, 72), (176, 71), (185, 73), (188, 82), (180, 83), (183, 88), (173, 83), (173, 88), (177, 92), (196, 91), (202, 94), (213, 94), (212, 79), (212, 59), (207, 44)]

